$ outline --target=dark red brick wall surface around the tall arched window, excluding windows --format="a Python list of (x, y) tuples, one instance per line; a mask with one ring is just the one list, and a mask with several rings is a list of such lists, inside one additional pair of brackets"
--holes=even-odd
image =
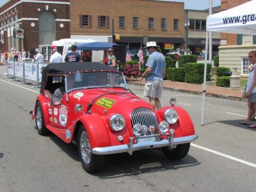
[[(4, 44), (1, 44), (1, 52), (5, 50), (11, 51), (11, 48), (16, 48), (21, 51), (31, 51), (39, 47), (38, 37), (38, 17), (45, 10), (51, 11), (56, 17), (56, 40), (70, 37), (70, 12), (69, 0), (61, 1), (18, 1), (11, 0), (0, 8), (0, 32), (4, 38)], [(18, 19), (15, 22), (1, 25), (1, 20), (10, 17), (17, 12)], [(9, 16), (8, 16), (9, 15)], [(19, 39), (19, 44), (8, 44), (8, 38), (12, 38), (13, 26), (24, 28), (24, 39)], [(51, 45), (51, 44), (50, 44)]]

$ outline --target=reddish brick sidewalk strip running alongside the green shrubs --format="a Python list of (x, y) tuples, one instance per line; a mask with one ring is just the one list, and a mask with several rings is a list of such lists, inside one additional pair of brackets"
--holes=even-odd
[[(136, 86), (144, 86), (145, 79), (142, 82), (138, 81), (127, 81), (128, 84), (134, 84)], [(173, 92), (192, 93), (196, 95), (202, 95), (203, 84), (190, 84), (173, 82), (164, 80), (164, 90), (172, 90)], [(240, 100), (248, 101), (243, 98), (244, 88), (223, 88), (220, 86), (206, 86), (205, 96), (207, 97), (218, 97), (228, 100)]]

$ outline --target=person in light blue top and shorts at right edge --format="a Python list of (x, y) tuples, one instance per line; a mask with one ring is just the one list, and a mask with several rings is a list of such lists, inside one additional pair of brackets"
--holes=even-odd
[(256, 124), (251, 125), (253, 109), (256, 109), (256, 51), (250, 51), (248, 56), (250, 63), (253, 64), (246, 84), (246, 97), (248, 98), (248, 116), (241, 125), (248, 125), (249, 128), (256, 128)]

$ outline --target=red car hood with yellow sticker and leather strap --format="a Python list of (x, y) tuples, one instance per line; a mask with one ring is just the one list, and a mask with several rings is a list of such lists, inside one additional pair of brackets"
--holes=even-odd
[(150, 104), (124, 88), (99, 88), (72, 92), (68, 96), (74, 104), (82, 104), (84, 110), (101, 115), (109, 113), (129, 114), (135, 108), (150, 108)]

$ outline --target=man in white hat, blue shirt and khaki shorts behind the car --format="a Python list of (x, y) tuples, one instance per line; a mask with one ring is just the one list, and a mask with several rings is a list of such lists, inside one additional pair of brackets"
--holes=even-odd
[(161, 96), (163, 92), (163, 79), (165, 76), (165, 58), (161, 52), (157, 51), (156, 42), (147, 42), (148, 61), (147, 69), (141, 75), (141, 79), (145, 79), (144, 97), (148, 97), (150, 105), (153, 109), (161, 109)]

